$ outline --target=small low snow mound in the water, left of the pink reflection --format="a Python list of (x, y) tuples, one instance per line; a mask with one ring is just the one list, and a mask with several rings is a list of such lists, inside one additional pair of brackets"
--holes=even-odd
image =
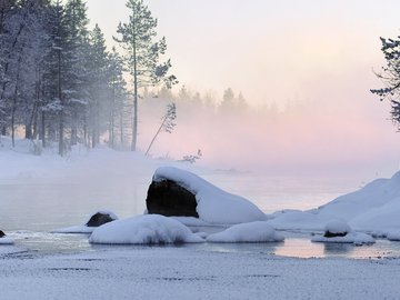
[(236, 224), (207, 238), (208, 242), (279, 242), (283, 240), (284, 238), (264, 221)]

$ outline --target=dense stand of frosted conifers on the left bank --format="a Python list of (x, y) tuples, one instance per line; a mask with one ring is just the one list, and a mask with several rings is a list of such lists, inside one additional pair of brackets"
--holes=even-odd
[(88, 29), (82, 0), (0, 1), (0, 133), (42, 147), (94, 147), (104, 132), (123, 144), (131, 108), (123, 61), (108, 51), (98, 26)]

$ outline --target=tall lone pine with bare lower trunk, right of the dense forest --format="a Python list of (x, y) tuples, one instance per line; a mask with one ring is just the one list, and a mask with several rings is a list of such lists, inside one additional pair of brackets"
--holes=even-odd
[(177, 82), (174, 76), (168, 76), (170, 60), (160, 63), (160, 56), (167, 49), (166, 38), (154, 41), (157, 37), (157, 19), (142, 0), (129, 0), (129, 22), (118, 26), (119, 38), (114, 38), (126, 50), (126, 62), (132, 76), (133, 83), (133, 120), (131, 150), (137, 149), (138, 136), (138, 99), (139, 89), (154, 86), (161, 81), (167, 87)]

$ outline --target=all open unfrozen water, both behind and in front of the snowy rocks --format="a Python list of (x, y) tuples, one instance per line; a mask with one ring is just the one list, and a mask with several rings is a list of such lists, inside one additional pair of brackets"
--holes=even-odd
[[(357, 189), (344, 179), (258, 177), (249, 173), (213, 172), (203, 178), (241, 194), (264, 212), (280, 209), (311, 209)], [(84, 223), (97, 210), (108, 209), (120, 218), (140, 214), (151, 176), (121, 179), (16, 179), (0, 180), (0, 229), (30, 253), (93, 251), (86, 234), (53, 234), (49, 231)], [(211, 230), (211, 229), (210, 229)], [(214, 229), (219, 230), (219, 229)], [(283, 232), (282, 243), (191, 244), (201, 251), (244, 251), (287, 257), (400, 257), (400, 243), (378, 240), (373, 246), (312, 243), (308, 234)], [(2, 246), (4, 247), (4, 246)], [(106, 247), (107, 248), (107, 247)], [(134, 247), (131, 247), (134, 248)]]

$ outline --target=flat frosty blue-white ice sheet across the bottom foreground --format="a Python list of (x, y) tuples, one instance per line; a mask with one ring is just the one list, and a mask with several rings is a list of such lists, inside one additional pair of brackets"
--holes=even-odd
[(1, 259), (1, 299), (398, 299), (400, 260), (136, 247)]

